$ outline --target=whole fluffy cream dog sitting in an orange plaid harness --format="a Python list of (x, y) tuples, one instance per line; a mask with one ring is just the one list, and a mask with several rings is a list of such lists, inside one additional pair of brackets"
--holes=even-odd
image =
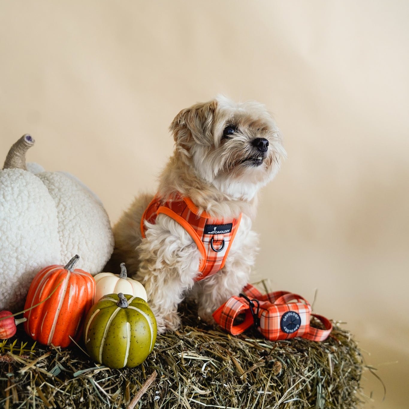
[(187, 295), (211, 323), (247, 283), (258, 246), (257, 193), (285, 156), (279, 128), (257, 102), (198, 103), (180, 111), (170, 130), (175, 151), (157, 195), (137, 196), (117, 222), (112, 258), (137, 272), (159, 333), (179, 327)]

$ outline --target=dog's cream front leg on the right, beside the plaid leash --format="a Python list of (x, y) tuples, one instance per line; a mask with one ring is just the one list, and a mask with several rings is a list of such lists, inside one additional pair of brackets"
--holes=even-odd
[(243, 215), (225, 266), (218, 273), (198, 281), (193, 292), (199, 303), (199, 316), (213, 324), (213, 312), (248, 283), (258, 250), (258, 236), (250, 230), (251, 220)]

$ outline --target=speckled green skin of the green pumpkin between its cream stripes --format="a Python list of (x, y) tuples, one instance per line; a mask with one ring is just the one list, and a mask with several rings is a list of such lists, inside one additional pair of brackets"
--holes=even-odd
[[(127, 308), (117, 306), (117, 294), (108, 294), (92, 306), (85, 318), (83, 339), (87, 351), (93, 360), (110, 368), (132, 368), (141, 364), (153, 350), (156, 341), (156, 319), (148, 303), (129, 294), (124, 296), (128, 301), (132, 299)], [(148, 317), (151, 326), (144, 314), (133, 307)], [(109, 323), (114, 314), (115, 317)], [(126, 360), (129, 327), (130, 342)]]

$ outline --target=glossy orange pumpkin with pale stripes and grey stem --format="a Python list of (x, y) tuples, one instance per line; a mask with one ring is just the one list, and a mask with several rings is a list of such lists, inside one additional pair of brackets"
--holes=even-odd
[(95, 297), (95, 280), (90, 273), (74, 270), (79, 256), (67, 265), (50, 265), (37, 273), (30, 285), (25, 308), (49, 299), (24, 313), (24, 328), (30, 337), (45, 345), (66, 347), (70, 336), (79, 339), (83, 321)]

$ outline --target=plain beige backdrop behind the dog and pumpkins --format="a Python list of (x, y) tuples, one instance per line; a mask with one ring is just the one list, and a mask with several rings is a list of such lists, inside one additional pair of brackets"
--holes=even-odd
[[(112, 222), (154, 191), (184, 107), (263, 101), (288, 160), (261, 194), (256, 278), (346, 321), (366, 407), (409, 407), (407, 1), (0, 0), (0, 154), (74, 173)], [(396, 363), (398, 361), (398, 363)]]

